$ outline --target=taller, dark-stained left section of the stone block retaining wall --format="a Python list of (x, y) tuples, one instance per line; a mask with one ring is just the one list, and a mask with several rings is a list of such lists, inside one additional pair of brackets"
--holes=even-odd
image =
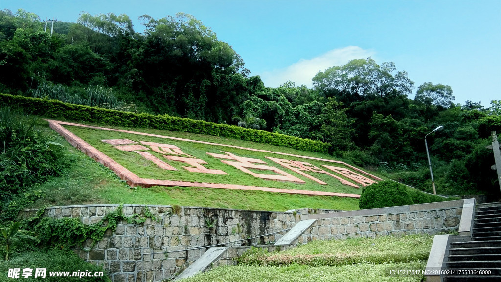
[[(55, 206), (46, 208), (44, 216), (80, 218), (84, 224), (93, 224), (117, 207)], [(181, 272), (208, 246), (233, 241), (237, 241), (233, 247), (273, 244), (300, 221), (300, 214), (295, 210), (124, 205), (122, 211), (126, 216), (137, 213), (144, 217), (146, 208), (157, 216), (158, 222), (151, 219), (142, 224), (121, 222), (113, 234), (107, 232), (99, 242), (88, 240), (83, 248), (75, 251), (84, 260), (103, 265), (112, 281), (159, 281)], [(35, 212), (27, 210), (22, 216), (29, 217)], [(262, 234), (269, 235), (259, 236)], [(231, 260), (227, 255), (224, 257)]]

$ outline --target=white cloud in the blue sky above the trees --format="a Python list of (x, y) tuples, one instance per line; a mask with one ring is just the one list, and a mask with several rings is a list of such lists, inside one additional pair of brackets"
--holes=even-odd
[(341, 49), (334, 49), (318, 57), (306, 60), (301, 59), (291, 66), (263, 72), (261, 79), (266, 87), (279, 87), (286, 81), (294, 81), (296, 86), (305, 84), (312, 87), (312, 78), (319, 72), (334, 66), (341, 66), (353, 59), (365, 59), (374, 54), (371, 50), (364, 50), (357, 46), (348, 46)]

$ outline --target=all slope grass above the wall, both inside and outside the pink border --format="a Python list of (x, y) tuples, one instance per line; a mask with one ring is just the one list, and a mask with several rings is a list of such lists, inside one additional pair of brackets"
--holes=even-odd
[[(46, 130), (50, 131), (48, 128), (48, 124), (45, 121), (40, 121), (40, 125), (44, 126)], [(68, 127), (70, 128), (70, 127)], [(80, 129), (80, 131), (78, 130)], [(125, 153), (122, 160), (125, 160), (126, 165), (132, 163), (129, 161), (130, 155), (134, 155), (130, 152), (121, 152), (113, 147), (109, 146), (108, 148), (100, 148), (100, 146), (107, 146), (101, 142), (99, 138), (103, 136), (97, 136), (98, 132), (94, 132), (92, 130), (87, 129), (87, 133), (83, 128), (77, 128), (74, 130), (74, 133), (77, 135), (82, 135), (85, 137), (84, 139), (88, 139), (89, 143), (96, 143), (99, 149), (103, 151), (109, 150), (111, 151), (111, 155), (116, 154), (119, 156), (121, 153)], [(313, 152), (305, 152), (298, 151), (291, 148), (282, 148), (278, 146), (268, 145), (268, 144), (257, 144), (248, 141), (235, 140), (230, 138), (221, 138), (215, 136), (205, 136), (205, 135), (197, 135), (183, 132), (169, 132), (162, 130), (153, 130), (153, 129), (137, 129), (137, 128), (127, 128), (127, 130), (131, 131), (141, 131), (145, 133), (153, 133), (159, 135), (166, 135), (172, 137), (180, 137), (192, 140), (202, 140), (209, 141), (214, 143), (223, 143), (229, 145), (237, 145), (242, 147), (254, 147), (259, 149), (265, 149), (270, 151), (281, 151), (284, 153), (298, 154), (298, 155), (307, 155), (312, 157), (321, 157), (321, 158), (331, 158), (328, 155), (313, 153)], [(116, 132), (104, 132), (105, 139), (112, 138), (132, 138), (131, 136), (125, 136), (122, 133)], [(54, 133), (55, 134), (55, 133)], [(111, 134), (118, 134), (117, 136)], [(88, 135), (88, 136), (85, 136)], [(94, 136), (95, 135), (95, 136)], [(134, 137), (137, 139), (137, 136)], [(132, 140), (135, 140), (132, 139)], [(141, 139), (142, 140), (142, 139)], [(144, 141), (144, 140), (143, 140)], [(151, 142), (165, 142), (165, 139), (156, 140), (154, 138), (148, 140)], [(170, 142), (169, 144), (173, 144)], [(207, 207), (222, 207), (222, 208), (237, 208), (237, 209), (255, 209), (255, 210), (287, 210), (292, 208), (302, 208), (302, 207), (314, 207), (314, 208), (329, 208), (329, 209), (343, 209), (343, 210), (353, 210), (358, 209), (358, 200), (353, 198), (338, 198), (338, 197), (325, 197), (325, 196), (304, 196), (304, 195), (291, 195), (291, 194), (283, 194), (283, 193), (271, 193), (264, 191), (242, 191), (242, 190), (226, 190), (226, 189), (210, 189), (210, 188), (182, 188), (182, 187), (151, 187), (151, 188), (130, 188), (123, 181), (118, 179), (118, 177), (108, 168), (100, 165), (96, 161), (90, 159), (85, 156), (82, 152), (75, 149), (62, 138), (58, 138), (58, 142), (62, 143), (67, 148), (68, 158), (71, 160), (71, 166), (65, 169), (62, 177), (53, 178), (44, 184), (38, 185), (35, 187), (35, 190), (40, 190), (43, 196), (37, 200), (32, 206), (40, 207), (44, 205), (68, 205), (68, 204), (85, 204), (85, 203), (127, 203), (127, 204), (166, 204), (166, 205), (184, 205), (184, 206), (207, 206)], [(182, 148), (183, 152), (188, 154), (193, 154), (194, 156), (200, 157), (203, 155), (203, 159), (209, 163), (209, 168), (218, 168), (218, 166), (223, 166), (224, 171), (230, 173), (230, 177), (228, 181), (240, 181), (239, 183), (243, 183), (244, 185), (249, 185), (248, 182), (245, 182), (241, 178), (242, 173), (238, 174), (238, 176), (231, 175), (232, 171), (237, 171), (231, 166), (220, 163), (217, 159), (212, 159), (212, 157), (208, 157), (205, 155), (205, 152), (214, 152), (220, 153), (221, 148), (207, 148), (203, 144), (196, 144), (193, 146), (193, 143), (190, 143), (190, 147), (185, 146), (182, 141), (177, 141), (175, 145), (178, 145)], [(201, 146), (203, 145), (203, 146)], [(199, 147), (201, 146), (201, 147)], [(210, 147), (210, 146), (209, 146)], [(207, 150), (207, 151), (204, 151)], [(263, 158), (264, 153), (260, 152), (251, 152), (249, 151), (241, 152), (243, 150), (233, 149), (224, 147), (222, 148), (224, 151), (234, 152), (240, 156), (246, 157), (255, 157), (255, 158)], [(106, 152), (109, 153), (109, 152)], [(113, 155), (113, 157), (116, 157)], [(135, 156), (134, 156), (135, 157)], [(284, 158), (283, 156), (275, 156), (278, 158)], [(287, 159), (295, 159), (292, 157), (287, 157)], [(266, 160), (266, 159), (264, 159)], [(310, 162), (310, 161), (309, 161)], [(267, 160), (267, 163), (271, 164), (270, 160)], [(311, 163), (314, 163), (313, 161)], [(316, 163), (314, 163), (316, 164)], [(177, 164), (173, 162), (173, 165)], [(317, 164), (316, 164), (317, 165)], [(181, 165), (179, 165), (180, 168)], [(280, 167), (278, 164), (277, 167)], [(134, 168), (134, 167), (132, 167)], [(179, 169), (178, 168), (178, 169)], [(151, 171), (154, 171), (156, 168), (153, 166), (149, 166)], [(285, 170), (285, 169), (284, 169)], [(139, 169), (139, 174), (151, 173), (148, 169), (141, 170)], [(182, 171), (182, 168), (180, 169)], [(231, 171), (231, 172), (230, 172)], [(292, 172), (292, 171), (289, 171)], [(186, 173), (187, 174), (187, 173)], [(190, 177), (193, 173), (190, 173)], [(182, 176), (182, 175), (181, 175)], [(304, 184), (303, 187), (310, 185), (308, 188), (310, 190), (326, 190), (326, 191), (336, 191), (336, 192), (349, 192), (349, 193), (360, 193), (361, 189), (350, 188), (348, 186), (344, 186), (342, 184), (335, 184), (335, 182), (331, 179), (322, 178), (323, 175), (315, 175), (319, 179), (330, 181), (331, 185), (316, 185), (310, 183)], [(198, 179), (193, 179), (192, 181), (204, 181), (208, 182), (210, 179), (205, 179), (203, 176), (195, 176), (201, 177)], [(247, 177), (245, 175), (245, 177)], [(304, 178), (304, 177), (301, 177)], [(248, 180), (248, 178), (247, 178)], [(253, 180), (254, 181), (254, 180)], [(291, 184), (285, 184), (281, 182), (275, 181), (265, 181), (261, 180), (260, 185), (263, 186), (276, 186), (276, 187), (290, 187)], [(212, 181), (211, 181), (212, 182)], [(230, 182), (228, 182), (230, 183)], [(255, 182), (253, 182), (255, 183)], [(266, 185), (265, 185), (266, 184)], [(256, 184), (254, 184), (256, 185)], [(294, 184), (300, 188), (300, 184)], [(313, 186), (312, 186), (313, 185)], [(316, 187), (315, 187), (316, 186)], [(325, 186), (330, 186), (330, 188), (325, 189)]]

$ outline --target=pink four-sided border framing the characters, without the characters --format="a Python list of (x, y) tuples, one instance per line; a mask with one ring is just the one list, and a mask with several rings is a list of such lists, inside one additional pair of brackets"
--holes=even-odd
[(365, 174), (365, 175), (367, 175), (375, 180), (382, 180), (381, 178), (376, 177), (372, 174), (369, 174), (369, 173), (367, 173), (359, 168), (356, 168), (356, 167), (351, 166), (347, 163), (335, 161), (335, 160), (293, 155), (293, 154), (273, 152), (273, 151), (268, 151), (268, 150), (245, 148), (245, 147), (240, 147), (240, 146), (225, 145), (225, 144), (211, 143), (211, 142), (205, 142), (205, 141), (176, 138), (176, 137), (168, 137), (168, 136), (127, 131), (127, 130), (121, 130), (121, 129), (113, 129), (113, 128), (106, 128), (106, 127), (84, 125), (84, 124), (57, 121), (57, 120), (46, 119), (46, 121), (49, 122), (49, 126), (54, 131), (56, 131), (61, 136), (63, 136), (75, 148), (81, 150), (82, 152), (87, 154), (89, 157), (95, 159), (96, 161), (100, 162), (101, 164), (109, 167), (122, 180), (127, 181), (127, 184), (129, 184), (129, 186), (131, 186), (131, 187), (135, 187), (135, 186), (151, 187), (151, 186), (156, 186), (156, 185), (158, 185), (158, 186), (181, 186), (181, 187), (205, 187), (205, 188), (222, 188), (222, 189), (237, 189), (237, 190), (261, 190), (261, 191), (268, 191), (268, 192), (303, 194), (303, 195), (311, 195), (311, 196), (337, 196), (337, 197), (360, 198), (359, 194), (350, 194), (350, 193), (336, 193), (336, 192), (312, 191), (312, 190), (300, 190), (300, 189), (282, 189), (282, 188), (260, 187), (260, 186), (246, 186), (246, 185), (218, 184), (218, 183), (204, 183), (204, 182), (200, 183), (200, 182), (171, 181), (171, 180), (140, 178), (136, 174), (131, 172), (130, 170), (126, 169), (125, 167), (123, 167), (122, 165), (120, 165), (119, 163), (117, 163), (116, 161), (114, 161), (113, 159), (111, 159), (110, 157), (108, 157), (107, 155), (102, 153), (101, 151), (99, 151), (98, 149), (91, 146), (89, 143), (85, 142), (80, 137), (73, 134), (68, 129), (64, 128), (62, 125), (81, 126), (81, 127), (87, 127), (87, 128), (94, 128), (94, 129), (101, 129), (101, 130), (108, 130), (108, 131), (117, 131), (117, 132), (130, 133), (130, 134), (136, 134), (136, 135), (159, 137), (159, 138), (179, 140), (179, 141), (188, 141), (188, 142), (202, 143), (202, 144), (208, 144), (208, 145), (225, 146), (225, 147), (232, 147), (232, 148), (238, 148), (238, 149), (244, 149), (244, 150), (250, 150), (250, 151), (259, 151), (259, 152), (287, 155), (287, 156), (293, 156), (293, 157), (299, 157), (299, 158), (305, 158), (305, 159), (313, 159), (313, 160), (320, 160), (320, 161), (326, 161), (326, 162), (340, 163), (340, 164), (344, 164), (346, 166), (349, 166), (349, 167), (351, 167), (351, 168), (353, 168), (353, 169), (355, 169), (355, 170), (357, 170), (357, 171), (359, 171), (359, 172), (361, 172), (361, 173), (363, 173), (363, 174)]

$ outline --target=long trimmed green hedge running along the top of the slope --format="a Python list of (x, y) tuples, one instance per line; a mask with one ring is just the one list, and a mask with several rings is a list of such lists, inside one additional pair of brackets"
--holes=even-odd
[(327, 153), (331, 146), (328, 143), (320, 141), (302, 139), (263, 130), (243, 128), (236, 125), (178, 118), (168, 115), (154, 116), (149, 114), (120, 112), (97, 107), (63, 103), (58, 100), (46, 100), (0, 93), (0, 103), (8, 104), (13, 108), (23, 109), (25, 112), (33, 115), (61, 118), (77, 122), (102, 123), (123, 127), (146, 127), (229, 137), (321, 153)]

